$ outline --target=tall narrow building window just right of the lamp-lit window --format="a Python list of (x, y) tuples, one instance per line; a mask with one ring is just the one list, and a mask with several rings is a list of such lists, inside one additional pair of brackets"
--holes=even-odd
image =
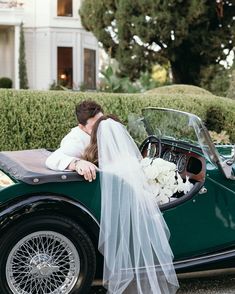
[(96, 51), (84, 49), (84, 86), (96, 88)]

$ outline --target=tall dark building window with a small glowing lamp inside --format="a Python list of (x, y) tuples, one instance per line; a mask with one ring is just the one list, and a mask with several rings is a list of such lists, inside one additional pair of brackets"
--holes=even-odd
[(57, 48), (57, 82), (66, 88), (73, 88), (73, 48)]

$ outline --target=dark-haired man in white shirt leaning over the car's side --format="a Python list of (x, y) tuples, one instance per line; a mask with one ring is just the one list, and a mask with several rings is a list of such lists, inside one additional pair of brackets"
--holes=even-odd
[(59, 171), (77, 171), (91, 182), (96, 178), (96, 166), (80, 157), (90, 142), (94, 124), (103, 116), (103, 110), (95, 101), (85, 100), (76, 105), (76, 116), (78, 126), (72, 128), (62, 139), (60, 148), (47, 158), (46, 166)]

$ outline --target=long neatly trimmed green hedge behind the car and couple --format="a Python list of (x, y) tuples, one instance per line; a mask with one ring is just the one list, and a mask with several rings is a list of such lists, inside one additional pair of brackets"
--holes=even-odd
[(146, 106), (180, 109), (203, 120), (212, 106), (224, 114), (224, 130), (235, 142), (235, 102), (213, 95), (111, 94), (69, 91), (0, 90), (0, 150), (57, 148), (61, 138), (76, 125), (75, 104), (93, 99), (126, 123), (129, 113)]

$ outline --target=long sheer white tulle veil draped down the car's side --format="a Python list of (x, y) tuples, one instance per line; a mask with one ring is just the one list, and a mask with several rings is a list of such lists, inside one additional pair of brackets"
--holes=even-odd
[(169, 231), (149, 191), (137, 146), (110, 118), (100, 122), (97, 144), (104, 286), (112, 294), (175, 293)]

